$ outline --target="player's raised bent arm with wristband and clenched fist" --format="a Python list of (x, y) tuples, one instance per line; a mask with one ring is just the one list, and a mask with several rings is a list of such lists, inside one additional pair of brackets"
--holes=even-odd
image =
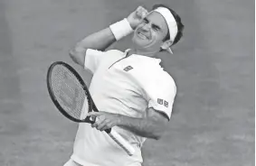
[(71, 59), (83, 66), (87, 49), (105, 51), (111, 44), (132, 32), (146, 14), (147, 10), (139, 6), (136, 11), (128, 15), (127, 19), (114, 23), (100, 32), (90, 34), (71, 49)]

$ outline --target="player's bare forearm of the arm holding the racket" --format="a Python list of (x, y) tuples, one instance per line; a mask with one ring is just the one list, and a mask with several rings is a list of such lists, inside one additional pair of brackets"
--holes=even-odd
[(134, 118), (119, 115), (118, 125), (139, 136), (156, 140), (160, 139), (165, 131), (165, 124), (153, 118)]

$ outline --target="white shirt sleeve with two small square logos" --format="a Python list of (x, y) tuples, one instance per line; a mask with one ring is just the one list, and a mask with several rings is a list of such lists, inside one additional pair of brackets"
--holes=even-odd
[(146, 89), (148, 108), (165, 114), (170, 120), (176, 95), (175, 81), (170, 76), (157, 78)]

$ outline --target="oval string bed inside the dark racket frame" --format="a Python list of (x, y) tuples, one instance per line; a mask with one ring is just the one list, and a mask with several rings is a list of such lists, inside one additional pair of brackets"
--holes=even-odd
[(61, 65), (52, 69), (52, 91), (67, 114), (83, 120), (89, 110), (87, 96), (79, 80)]

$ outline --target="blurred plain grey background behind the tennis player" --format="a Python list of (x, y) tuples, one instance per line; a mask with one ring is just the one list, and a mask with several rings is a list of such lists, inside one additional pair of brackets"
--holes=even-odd
[[(159, 54), (175, 78), (168, 130), (147, 140), (144, 166), (253, 166), (254, 1), (0, 0), (0, 165), (62, 165), (77, 124), (53, 106), (46, 71), (91, 32), (138, 5), (166, 4), (185, 24), (173, 55)], [(113, 45), (128, 49), (129, 37)]]

